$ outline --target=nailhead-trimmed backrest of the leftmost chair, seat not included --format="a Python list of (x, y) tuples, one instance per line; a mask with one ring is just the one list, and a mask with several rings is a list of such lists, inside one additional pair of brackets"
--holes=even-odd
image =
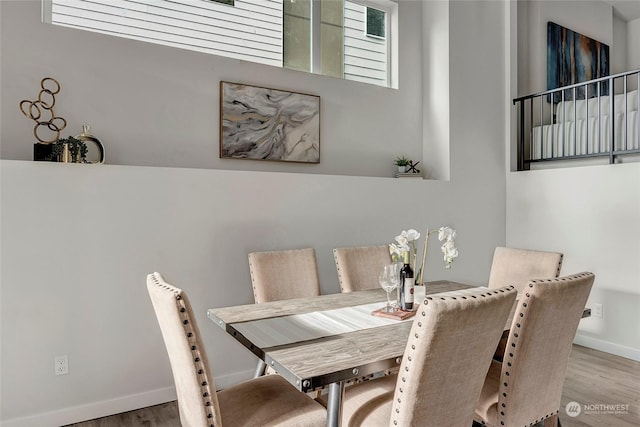
[(221, 425), (216, 387), (187, 295), (159, 273), (147, 276), (147, 290), (169, 354), (181, 424)]

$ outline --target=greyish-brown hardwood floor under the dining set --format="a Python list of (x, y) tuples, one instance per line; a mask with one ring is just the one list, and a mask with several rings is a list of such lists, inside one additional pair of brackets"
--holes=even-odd
[[(580, 408), (573, 417), (566, 411), (571, 402), (579, 406), (570, 407)], [(563, 427), (640, 426), (640, 362), (574, 345), (562, 392), (560, 422)], [(134, 426), (179, 427), (176, 402), (69, 427)]]

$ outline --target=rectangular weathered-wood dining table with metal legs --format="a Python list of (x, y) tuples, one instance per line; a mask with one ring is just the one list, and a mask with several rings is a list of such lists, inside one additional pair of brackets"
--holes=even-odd
[[(478, 287), (439, 280), (415, 289), (419, 303), (426, 295), (463, 295)], [(328, 389), (327, 426), (333, 427), (341, 424), (346, 384), (400, 366), (413, 318), (373, 316), (386, 301), (382, 289), (371, 289), (211, 308), (207, 317), (300, 392)]]

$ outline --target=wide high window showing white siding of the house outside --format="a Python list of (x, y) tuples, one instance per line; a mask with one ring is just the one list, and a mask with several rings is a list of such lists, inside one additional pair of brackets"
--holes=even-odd
[(55, 25), (397, 87), (390, 0), (42, 1)]

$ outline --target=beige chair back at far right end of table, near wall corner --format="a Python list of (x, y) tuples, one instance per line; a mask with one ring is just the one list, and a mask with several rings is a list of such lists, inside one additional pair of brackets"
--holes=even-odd
[(522, 292), (531, 280), (558, 277), (562, 257), (559, 252), (497, 247), (487, 286), (495, 289), (513, 285)]

